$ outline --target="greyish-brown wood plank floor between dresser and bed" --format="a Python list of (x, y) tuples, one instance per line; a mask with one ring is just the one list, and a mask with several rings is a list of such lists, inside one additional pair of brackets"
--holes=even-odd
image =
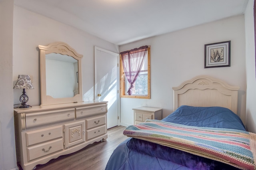
[(110, 128), (106, 142), (94, 142), (82, 150), (37, 165), (36, 170), (104, 170), (114, 149), (128, 138), (123, 135), (124, 128)]

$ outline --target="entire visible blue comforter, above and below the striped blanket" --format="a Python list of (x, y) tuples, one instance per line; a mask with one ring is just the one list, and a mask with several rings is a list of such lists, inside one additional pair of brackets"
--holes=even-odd
[[(197, 127), (245, 130), (241, 119), (223, 107), (181, 106), (162, 121)], [(230, 165), (196, 156), (160, 144), (130, 138), (113, 152), (106, 170), (236, 169)]]

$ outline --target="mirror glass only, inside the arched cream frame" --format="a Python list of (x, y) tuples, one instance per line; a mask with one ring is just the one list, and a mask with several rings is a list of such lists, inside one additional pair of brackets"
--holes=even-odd
[(78, 92), (78, 63), (68, 55), (50, 53), (45, 57), (46, 95), (74, 97)]

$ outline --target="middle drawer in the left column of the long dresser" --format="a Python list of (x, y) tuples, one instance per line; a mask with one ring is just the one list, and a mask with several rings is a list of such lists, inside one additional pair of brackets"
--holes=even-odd
[(62, 131), (62, 126), (58, 126), (26, 132), (26, 144), (27, 146), (31, 146), (47, 140), (63, 137)]

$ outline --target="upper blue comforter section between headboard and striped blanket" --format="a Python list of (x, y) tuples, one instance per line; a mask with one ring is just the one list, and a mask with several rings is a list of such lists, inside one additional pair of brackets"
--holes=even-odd
[(196, 127), (245, 130), (240, 117), (224, 107), (180, 106), (162, 121)]

